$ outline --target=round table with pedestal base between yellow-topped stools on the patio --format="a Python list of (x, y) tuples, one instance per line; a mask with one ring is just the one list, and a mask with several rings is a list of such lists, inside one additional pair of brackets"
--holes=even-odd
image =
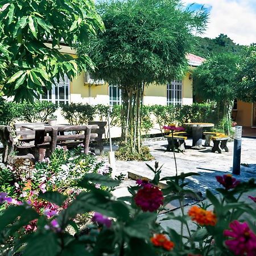
[(204, 127), (213, 127), (214, 123), (184, 123), (184, 125), (192, 127), (192, 148), (200, 150), (205, 147), (202, 145), (203, 138), (203, 128)]

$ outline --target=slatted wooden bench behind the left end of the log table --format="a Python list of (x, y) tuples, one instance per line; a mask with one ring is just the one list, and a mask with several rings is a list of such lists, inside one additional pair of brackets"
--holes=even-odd
[(22, 144), (22, 142), (31, 142), (35, 141), (35, 131), (26, 129), (24, 125), (33, 125), (33, 126), (43, 126), (45, 123), (36, 122), (36, 123), (14, 123), (15, 135), (18, 138), (18, 142)]

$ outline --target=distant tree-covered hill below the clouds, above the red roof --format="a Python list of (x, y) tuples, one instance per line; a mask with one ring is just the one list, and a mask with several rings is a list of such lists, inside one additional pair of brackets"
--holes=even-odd
[(208, 59), (210, 56), (227, 52), (239, 55), (242, 51), (242, 46), (234, 43), (233, 40), (224, 34), (220, 34), (214, 39), (196, 36), (196, 41), (197, 43), (193, 47), (191, 53), (206, 59)]

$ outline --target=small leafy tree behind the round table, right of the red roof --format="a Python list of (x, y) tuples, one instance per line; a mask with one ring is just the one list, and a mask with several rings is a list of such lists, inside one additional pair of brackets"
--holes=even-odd
[(237, 97), (235, 81), (239, 57), (223, 53), (210, 57), (193, 73), (195, 95), (204, 101), (216, 101), (224, 129), (229, 133), (230, 115)]

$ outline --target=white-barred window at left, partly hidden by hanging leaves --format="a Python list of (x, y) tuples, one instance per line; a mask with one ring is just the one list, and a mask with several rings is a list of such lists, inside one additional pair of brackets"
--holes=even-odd
[(40, 101), (51, 101), (57, 105), (65, 105), (69, 102), (70, 95), (70, 80), (67, 75), (64, 75), (64, 80), (60, 77), (60, 81), (56, 85), (52, 84), (52, 89), (47, 90), (43, 87), (44, 94), (40, 94)]

